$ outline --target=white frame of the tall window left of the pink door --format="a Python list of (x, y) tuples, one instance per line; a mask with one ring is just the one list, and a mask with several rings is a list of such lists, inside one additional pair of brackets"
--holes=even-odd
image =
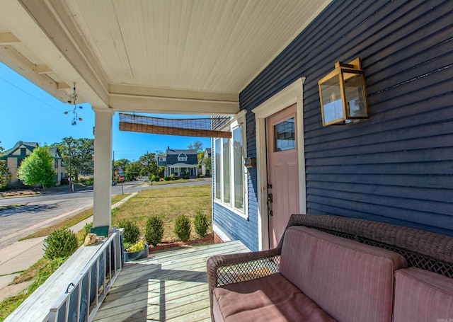
[[(242, 157), (243, 159), (246, 157), (246, 153), (247, 153), (247, 136), (246, 136), (246, 110), (242, 110), (241, 112), (239, 112), (238, 114), (236, 114), (233, 118), (231, 118), (231, 122), (230, 122), (230, 128), (231, 128), (231, 132), (233, 132), (234, 130), (236, 130), (237, 127), (239, 126), (242, 126)], [(222, 138), (214, 138), (214, 154), (215, 154), (215, 151), (216, 151), (216, 146), (217, 144), (220, 143), (220, 146), (219, 146), (219, 151), (221, 153), (221, 156), (220, 156), (220, 161), (221, 161), (221, 166), (220, 166), (220, 171), (219, 173), (217, 173), (217, 171), (215, 171), (214, 173), (214, 176), (216, 176), (216, 179), (217, 179), (217, 175), (220, 174), (220, 187), (221, 187), (221, 191), (220, 191), (220, 199), (217, 199), (216, 197), (216, 190), (217, 190), (217, 180), (214, 181), (214, 193), (213, 193), (213, 201), (215, 203), (217, 203), (218, 205), (221, 205), (222, 207), (228, 209), (230, 212), (233, 212), (234, 214), (237, 214), (239, 217), (242, 217), (243, 219), (248, 219), (248, 172), (247, 172), (247, 169), (246, 169), (246, 166), (245, 164), (242, 162), (242, 167), (243, 167), (243, 177), (242, 177), (242, 182), (243, 182), (243, 212), (234, 207), (234, 198), (235, 198), (235, 191), (234, 191), (234, 188), (235, 188), (235, 185), (234, 185), (234, 154), (231, 153), (232, 149), (233, 149), (233, 137), (231, 136), (231, 139), (228, 139), (229, 140), (229, 148), (230, 148), (230, 155), (229, 155), (229, 164), (230, 164), (230, 171), (229, 171), (229, 182), (230, 182), (230, 202), (229, 203), (225, 203), (223, 201), (223, 198), (224, 198), (224, 192), (223, 192), (223, 187), (224, 187), (224, 176), (223, 176), (223, 149), (222, 149)], [(214, 160), (215, 160), (215, 156), (214, 156)], [(214, 168), (215, 169), (215, 168)]]

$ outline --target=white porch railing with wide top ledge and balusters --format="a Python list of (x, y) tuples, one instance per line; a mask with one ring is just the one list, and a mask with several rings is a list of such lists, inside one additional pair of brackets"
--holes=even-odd
[(122, 256), (122, 229), (114, 228), (103, 243), (81, 246), (4, 322), (91, 321), (120, 273)]

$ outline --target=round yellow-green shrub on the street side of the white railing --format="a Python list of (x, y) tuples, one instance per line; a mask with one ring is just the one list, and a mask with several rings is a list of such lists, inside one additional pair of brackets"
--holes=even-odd
[(44, 257), (68, 258), (79, 247), (76, 234), (65, 228), (54, 231), (44, 240)]

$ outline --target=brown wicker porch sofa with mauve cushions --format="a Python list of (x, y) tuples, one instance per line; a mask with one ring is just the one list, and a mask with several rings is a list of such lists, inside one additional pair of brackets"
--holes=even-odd
[(213, 321), (453, 321), (453, 237), (293, 214), (277, 248), (207, 260)]

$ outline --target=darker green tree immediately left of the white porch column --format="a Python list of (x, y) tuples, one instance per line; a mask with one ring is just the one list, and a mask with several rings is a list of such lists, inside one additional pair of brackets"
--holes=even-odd
[(59, 149), (68, 175), (77, 181), (81, 173), (93, 174), (93, 144), (94, 139), (64, 137), (62, 142), (54, 143), (52, 146)]

